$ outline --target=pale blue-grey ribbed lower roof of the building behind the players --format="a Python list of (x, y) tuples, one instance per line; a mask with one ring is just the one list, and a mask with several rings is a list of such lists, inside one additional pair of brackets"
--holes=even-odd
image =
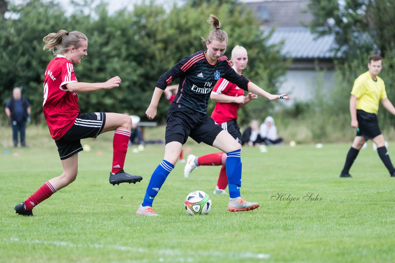
[[(265, 29), (267, 33), (269, 29)], [(276, 28), (268, 41), (269, 45), (284, 41), (281, 53), (293, 59), (330, 59), (335, 45), (333, 35), (316, 38), (308, 28)]]

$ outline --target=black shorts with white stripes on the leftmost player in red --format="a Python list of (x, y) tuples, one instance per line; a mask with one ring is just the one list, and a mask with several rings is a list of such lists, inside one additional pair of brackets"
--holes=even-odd
[(83, 151), (81, 139), (96, 138), (103, 131), (104, 124), (105, 112), (78, 114), (73, 126), (62, 138), (55, 141), (60, 160)]

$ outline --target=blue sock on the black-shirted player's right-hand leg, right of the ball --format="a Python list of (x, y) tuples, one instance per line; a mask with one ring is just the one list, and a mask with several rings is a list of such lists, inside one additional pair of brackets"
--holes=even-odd
[(241, 187), (241, 149), (226, 153), (226, 174), (228, 175), (229, 197), (240, 196)]

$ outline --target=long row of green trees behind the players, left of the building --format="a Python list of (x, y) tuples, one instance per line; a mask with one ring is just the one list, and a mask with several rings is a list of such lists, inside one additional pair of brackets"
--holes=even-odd
[[(85, 6), (90, 7), (89, 13)], [(37, 121), (42, 119), (43, 72), (53, 58), (43, 50), (42, 39), (60, 29), (78, 30), (88, 37), (88, 56), (75, 65), (79, 81), (103, 82), (116, 75), (122, 79), (118, 88), (81, 94), (82, 112), (129, 112), (144, 117), (159, 76), (182, 58), (205, 49), (200, 36), (206, 37), (212, 30), (206, 20), (213, 10), (229, 35), (226, 55), (230, 56), (235, 45), (247, 48), (251, 59), (246, 76), (276, 92), (286, 69), (280, 46), (266, 45), (268, 37), (263, 37), (252, 15), (240, 5), (186, 4), (166, 12), (149, 2), (113, 15), (104, 3), (95, 6), (92, 0), (75, 7), (67, 17), (55, 2), (30, 0), (10, 6), (19, 17), (0, 25), (0, 99), (6, 103), (14, 86), (24, 86), (24, 95), (32, 102), (32, 118)], [(269, 105), (273, 104), (256, 103), (258, 108), (243, 110), (262, 114)], [(166, 121), (167, 109), (168, 102), (161, 100), (157, 121)]]

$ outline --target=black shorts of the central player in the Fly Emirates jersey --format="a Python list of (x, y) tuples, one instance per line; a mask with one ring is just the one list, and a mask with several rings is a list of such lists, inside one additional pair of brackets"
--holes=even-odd
[(172, 103), (167, 112), (165, 142), (180, 142), (184, 144), (188, 136), (197, 143), (204, 142), (213, 146), (218, 133), (223, 131), (211, 117), (190, 108), (177, 108)]

